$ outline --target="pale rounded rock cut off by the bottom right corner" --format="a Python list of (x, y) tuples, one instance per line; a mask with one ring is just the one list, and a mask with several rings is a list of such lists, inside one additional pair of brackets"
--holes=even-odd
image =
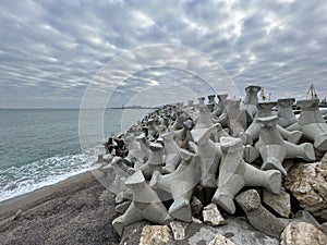
[(327, 235), (315, 225), (305, 222), (291, 222), (281, 234), (281, 245), (326, 245)]

